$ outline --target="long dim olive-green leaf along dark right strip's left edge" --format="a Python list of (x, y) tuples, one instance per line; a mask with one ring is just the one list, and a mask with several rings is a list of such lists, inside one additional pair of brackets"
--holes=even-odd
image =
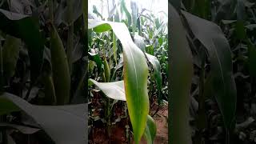
[(193, 75), (192, 54), (186, 40), (186, 32), (178, 12), (170, 5), (169, 45), (171, 66), (169, 66), (171, 82), (170, 126), (168, 126), (170, 143), (191, 143), (189, 126), (190, 86)]

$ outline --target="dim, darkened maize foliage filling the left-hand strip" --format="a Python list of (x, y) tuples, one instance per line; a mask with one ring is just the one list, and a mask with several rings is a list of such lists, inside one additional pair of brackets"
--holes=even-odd
[(87, 142), (86, 7), (0, 2), (0, 143)]

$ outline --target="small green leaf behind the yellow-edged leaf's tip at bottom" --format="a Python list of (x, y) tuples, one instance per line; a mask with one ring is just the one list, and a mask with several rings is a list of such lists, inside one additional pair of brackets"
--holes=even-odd
[(154, 137), (157, 134), (157, 126), (154, 122), (154, 119), (147, 115), (146, 128), (144, 131), (144, 137), (148, 144), (154, 143)]

